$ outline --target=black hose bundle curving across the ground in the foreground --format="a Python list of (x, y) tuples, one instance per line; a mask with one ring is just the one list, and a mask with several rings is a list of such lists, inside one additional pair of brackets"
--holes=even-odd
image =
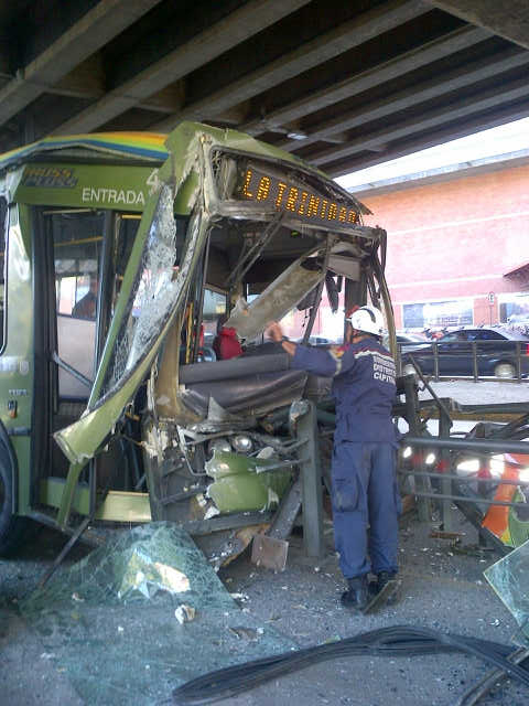
[(442, 633), (430, 628), (395, 625), (360, 633), (338, 642), (277, 654), (204, 674), (175, 688), (173, 703), (210, 704), (247, 692), (263, 682), (305, 668), (316, 662), (356, 655), (395, 657), (464, 652), (481, 657), (529, 686), (529, 671), (507, 660), (515, 650), (512, 645)]

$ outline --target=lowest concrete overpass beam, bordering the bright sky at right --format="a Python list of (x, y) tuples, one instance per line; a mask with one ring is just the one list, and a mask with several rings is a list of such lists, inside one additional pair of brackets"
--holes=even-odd
[(350, 174), (359, 169), (366, 169), (367, 167), (375, 167), (389, 160), (398, 159), (399, 157), (406, 157), (420, 150), (425, 150), (429, 147), (436, 147), (443, 145), (450, 140), (457, 140), (468, 135), (481, 132), (482, 130), (488, 130), (490, 128), (511, 122), (512, 120), (520, 120), (521, 118), (529, 117), (529, 100), (522, 100), (515, 105), (507, 107), (499, 107), (497, 110), (487, 113), (485, 116), (479, 114), (477, 116), (471, 116), (466, 120), (461, 120), (455, 127), (450, 124), (446, 127), (442, 127), (431, 132), (423, 133), (418, 138), (411, 136), (409, 139), (403, 140), (400, 143), (390, 147), (381, 153), (373, 156), (373, 158), (366, 158), (365, 156), (358, 157), (355, 160), (354, 156), (346, 157), (342, 160), (331, 160), (324, 164), (323, 170), (331, 176), (343, 176), (344, 174)]

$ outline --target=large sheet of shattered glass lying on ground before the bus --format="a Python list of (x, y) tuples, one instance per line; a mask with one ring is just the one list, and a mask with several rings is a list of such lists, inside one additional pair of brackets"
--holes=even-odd
[(242, 611), (187, 533), (165, 522), (119, 532), (21, 612), (54, 668), (97, 706), (160, 703), (199, 674), (295, 646)]

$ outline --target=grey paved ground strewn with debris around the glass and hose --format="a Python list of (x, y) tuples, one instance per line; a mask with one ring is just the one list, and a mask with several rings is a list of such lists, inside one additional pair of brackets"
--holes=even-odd
[[(482, 394), (483, 398), (490, 399), (489, 385), (497, 383), (442, 383), (439, 387), (451, 386), (451, 392), (439, 392), (460, 399), (463, 393), (475, 402)], [(457, 394), (452, 394), (455, 386)], [(467, 389), (468, 386), (472, 389)], [(505, 393), (509, 398), (515, 394), (519, 395), (520, 402), (529, 398), (526, 384), (505, 387), (509, 388)], [(499, 391), (500, 395), (503, 391)], [(494, 395), (498, 397), (496, 392)], [(222, 579), (230, 592), (245, 596), (242, 607), (247, 614), (260, 620), (264, 629), (273, 627), (293, 639), (299, 646), (398, 624), (427, 625), (510, 643), (517, 631), (516, 623), (483, 577), (483, 570), (498, 557), (478, 549), (474, 530), (460, 515), (455, 530), (461, 533), (461, 545), (432, 538), (432, 527), (435, 523), (420, 523), (413, 511), (402, 517), (400, 601), (367, 617), (352, 614), (339, 606), (344, 584), (332, 546), (328, 520), (325, 525), (326, 554), (321, 560), (306, 559), (302, 537), (294, 535), (284, 573), (257, 568), (242, 556), (222, 570)], [(63, 543), (60, 535), (43, 530), (18, 559), (0, 560), (1, 704), (80, 706), (86, 703), (75, 693), (66, 672), (50, 660), (41, 639), (17, 611), (18, 601), (36, 585)], [(78, 559), (85, 552), (76, 549), (68, 561)], [(250, 648), (249, 644), (249, 654)], [(72, 650), (83, 649), (82, 644), (72, 644)], [(139, 643), (138, 650), (141, 649)], [(287, 706), (292, 703), (386, 706), (390, 700), (395, 706), (452, 706), (486, 671), (487, 667), (476, 659), (457, 654), (415, 660), (354, 657), (311, 666), (225, 703), (230, 706)], [(165, 698), (169, 695), (165, 694)], [(133, 705), (134, 695), (116, 703)], [(481, 702), (484, 706), (522, 706), (527, 703), (529, 692), (511, 683)]]

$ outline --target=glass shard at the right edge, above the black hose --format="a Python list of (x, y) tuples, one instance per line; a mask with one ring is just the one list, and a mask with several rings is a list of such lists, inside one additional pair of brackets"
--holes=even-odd
[(529, 644), (529, 541), (489, 566), (484, 576), (512, 613)]

